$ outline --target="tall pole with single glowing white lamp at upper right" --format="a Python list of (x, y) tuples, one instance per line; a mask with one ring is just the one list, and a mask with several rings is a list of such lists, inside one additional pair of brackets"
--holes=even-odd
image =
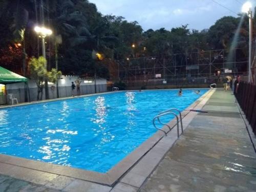
[(249, 58), (248, 58), (248, 82), (251, 82), (251, 41), (252, 41), (252, 11), (251, 11), (251, 3), (246, 2), (242, 6), (242, 12), (247, 13), (249, 17)]

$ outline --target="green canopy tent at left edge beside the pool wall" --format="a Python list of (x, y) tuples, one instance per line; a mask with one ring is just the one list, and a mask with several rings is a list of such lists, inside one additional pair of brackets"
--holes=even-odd
[[(3, 67), (0, 66), (0, 84), (10, 84), (10, 83), (17, 83), (17, 82), (25, 82), (26, 91), (28, 91), (28, 79), (16, 73), (13, 73)], [(29, 98), (30, 100), (30, 98)]]

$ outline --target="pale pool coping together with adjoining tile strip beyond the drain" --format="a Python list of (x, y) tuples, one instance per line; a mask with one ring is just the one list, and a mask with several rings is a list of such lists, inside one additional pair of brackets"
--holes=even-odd
[[(184, 129), (197, 115), (197, 112), (190, 112), (189, 110), (202, 109), (214, 92), (215, 89), (207, 91), (182, 112)], [(49, 102), (49, 100), (46, 102)], [(173, 127), (173, 131), (170, 132), (168, 127), (164, 126), (163, 129), (168, 132), (166, 137), (164, 137), (163, 132), (157, 131), (152, 137), (148, 138), (132, 153), (111, 168), (106, 174), (3, 154), (0, 154), (0, 173), (17, 179), (25, 179), (37, 184), (45, 185), (48, 183), (49, 186), (51, 186), (51, 182), (54, 182), (56, 178), (64, 177), (70, 178), (70, 183), (74, 182), (74, 180), (84, 180), (89, 183), (93, 182), (106, 186), (114, 186), (120, 181), (119, 183), (139, 187), (178, 138), (176, 120), (173, 119), (168, 125)], [(45, 181), (42, 179), (40, 180), (40, 177), (36, 179), (34, 177), (29, 177), (28, 175), (35, 175), (36, 177), (43, 175), (48, 179)]]

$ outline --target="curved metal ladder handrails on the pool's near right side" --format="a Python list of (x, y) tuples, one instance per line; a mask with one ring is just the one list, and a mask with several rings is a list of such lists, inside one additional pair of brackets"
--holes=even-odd
[[(179, 116), (180, 116), (180, 120), (179, 120), (178, 115), (177, 115), (176, 113), (174, 113), (173, 111), (178, 111), (178, 112), (179, 112), (179, 114), (180, 114), (180, 115), (179, 115)], [(176, 109), (176, 108), (172, 108), (172, 109), (169, 109), (169, 110), (160, 112), (157, 116), (154, 117), (154, 119), (153, 119), (153, 124), (154, 124), (154, 126), (155, 126), (155, 128), (156, 128), (157, 130), (160, 130), (160, 131), (164, 132), (164, 134), (165, 134), (165, 136), (166, 136), (166, 135), (167, 135), (167, 132), (165, 132), (165, 131), (162, 130), (161, 128), (157, 127), (155, 121), (156, 121), (156, 119), (157, 119), (160, 124), (166, 125), (166, 126), (169, 128), (169, 130), (171, 131), (173, 128), (170, 128), (170, 126), (169, 126), (168, 124), (162, 123), (162, 122), (160, 121), (160, 119), (159, 119), (160, 117), (165, 116), (165, 115), (168, 115), (168, 114), (172, 114), (172, 115), (174, 115), (174, 116), (176, 117), (176, 120), (177, 120), (177, 133), (178, 133), (178, 138), (179, 138), (179, 137), (180, 137), (180, 134), (179, 134), (179, 122), (180, 122), (180, 124), (181, 124), (181, 133), (183, 133), (183, 124), (182, 124), (182, 117), (181, 117), (181, 112), (180, 112), (180, 110), (178, 110), (178, 109)]]

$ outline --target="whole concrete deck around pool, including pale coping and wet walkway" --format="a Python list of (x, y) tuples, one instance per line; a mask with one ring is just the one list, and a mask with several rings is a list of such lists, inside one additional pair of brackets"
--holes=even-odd
[[(253, 191), (256, 188), (255, 153), (233, 101), (230, 92), (209, 91), (189, 106), (202, 109), (206, 104), (204, 109), (207, 108), (209, 114), (183, 112), (183, 124), (187, 128), (184, 135), (175, 143), (176, 129), (166, 137), (157, 132), (155, 139), (148, 139), (140, 147), (146, 153), (135, 165), (125, 172), (122, 168), (127, 167), (127, 162), (133, 159), (131, 156), (115, 172), (109, 173), (110, 177), (105, 181), (111, 184), (109, 186), (72, 177), (67, 171), (66, 175), (58, 175), (51, 173), (50, 169), (44, 172), (44, 166), (40, 170), (37, 167), (28, 168), (25, 166), (26, 160), (22, 163), (22, 159), (19, 159), (19, 166), (14, 166), (7, 157), (6, 161), (0, 163), (0, 174), (3, 174), (0, 176), (0, 191), (222, 191), (237, 188)], [(223, 109), (220, 110), (219, 105)], [(218, 116), (219, 111), (228, 116)], [(175, 121), (170, 122), (170, 125), (174, 124)], [(151, 146), (151, 150), (148, 150), (148, 146)], [(72, 169), (69, 171), (72, 172)], [(233, 174), (237, 179), (233, 178)], [(79, 177), (83, 178), (82, 172)], [(218, 182), (215, 182), (217, 179)]]

